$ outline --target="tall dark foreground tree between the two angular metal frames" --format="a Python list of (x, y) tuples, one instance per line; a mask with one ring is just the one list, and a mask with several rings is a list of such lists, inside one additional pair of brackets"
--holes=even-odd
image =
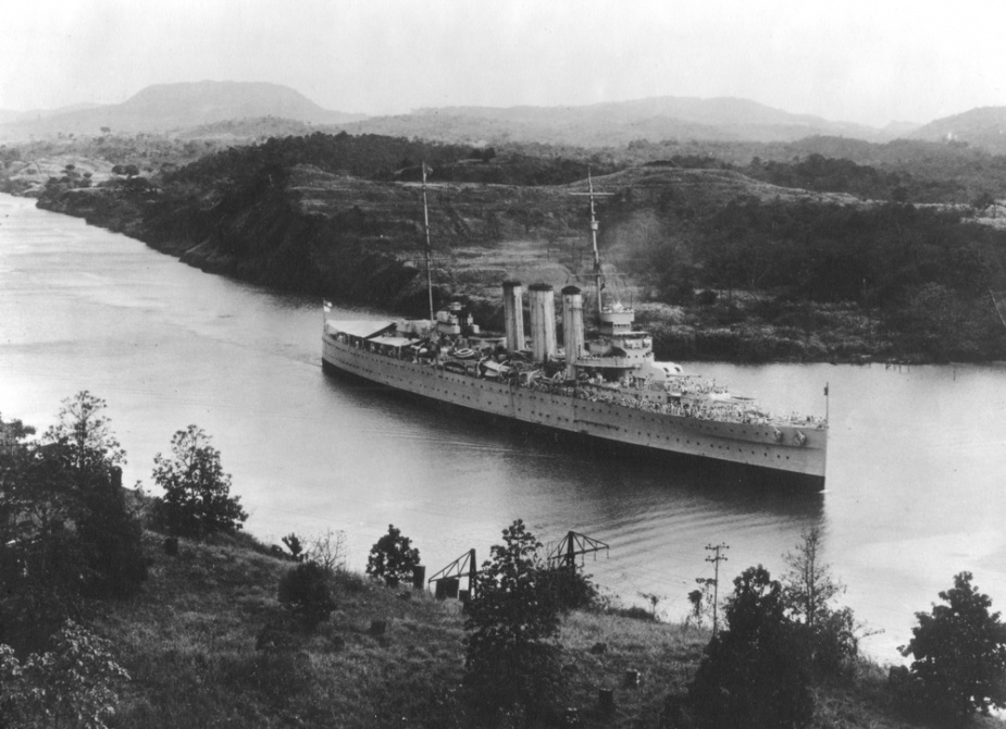
[(554, 696), (560, 604), (538, 556), (542, 543), (524, 522), (502, 532), (475, 577), (468, 605), (467, 680), (492, 708), (530, 711)]

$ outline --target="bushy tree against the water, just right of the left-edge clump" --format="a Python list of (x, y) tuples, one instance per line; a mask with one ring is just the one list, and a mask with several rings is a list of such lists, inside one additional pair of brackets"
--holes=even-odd
[(240, 498), (231, 496), (231, 474), (220, 462), (220, 452), (197, 425), (176, 431), (171, 438), (172, 457), (153, 458), (153, 481), (164, 490), (162, 518), (167, 530), (181, 536), (206, 536), (234, 532), (248, 518)]

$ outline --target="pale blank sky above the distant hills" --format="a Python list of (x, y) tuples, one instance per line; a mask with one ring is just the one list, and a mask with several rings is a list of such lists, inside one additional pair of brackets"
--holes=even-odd
[[(16, 4), (15, 4), (16, 3)], [(0, 109), (266, 81), (327, 109), (736, 96), (881, 126), (1006, 106), (1003, 0), (7, 0)]]

